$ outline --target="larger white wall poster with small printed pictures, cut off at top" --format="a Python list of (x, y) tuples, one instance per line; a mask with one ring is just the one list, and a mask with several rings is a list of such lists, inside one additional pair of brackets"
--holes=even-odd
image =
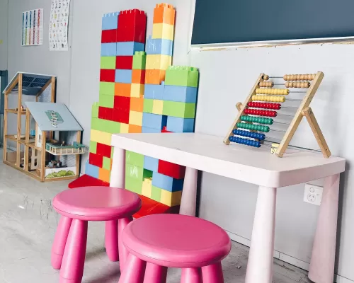
[(68, 50), (70, 0), (52, 0), (50, 10), (49, 45), (51, 51)]

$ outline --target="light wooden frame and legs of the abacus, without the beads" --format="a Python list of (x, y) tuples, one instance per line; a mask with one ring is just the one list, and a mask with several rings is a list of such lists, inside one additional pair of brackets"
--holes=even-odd
[[(252, 96), (256, 94), (256, 88), (259, 88), (259, 83), (264, 81), (263, 76), (264, 74), (261, 73), (261, 75), (258, 77), (256, 81), (256, 84), (251, 89), (251, 93), (246, 98), (245, 102), (243, 104), (242, 103), (236, 104), (236, 108), (239, 110), (239, 113), (236, 116), (236, 119), (234, 120), (232, 127), (230, 127), (227, 136), (224, 138), (224, 144), (227, 145), (230, 144), (229, 137), (233, 137), (234, 134), (232, 133), (232, 131), (236, 129), (237, 123), (241, 122), (241, 115), (243, 115), (247, 103), (249, 103), (251, 101)], [(324, 139), (324, 135), (322, 134), (319, 124), (316, 121), (314, 112), (312, 111), (311, 108), (309, 108), (309, 104), (311, 103), (312, 98), (314, 98), (314, 95), (316, 94), (316, 91), (319, 88), (322, 79), (324, 79), (324, 73), (321, 71), (317, 72), (314, 80), (312, 81), (311, 86), (309, 87), (306, 93), (306, 96), (304, 96), (302, 103), (299, 105), (299, 108), (297, 109), (297, 112), (295, 113), (292, 122), (290, 122), (290, 125), (287, 128), (284, 137), (282, 137), (282, 141), (280, 141), (280, 145), (277, 151), (275, 152), (275, 154), (278, 157), (282, 157), (283, 154), (285, 153), (287, 146), (289, 146), (290, 141), (294, 136), (297, 127), (299, 127), (302, 117), (304, 116), (307, 118), (307, 122), (309, 122), (309, 125), (312, 129), (312, 132), (314, 133), (314, 137), (316, 138), (316, 141), (319, 144), (319, 147), (322, 151), (324, 158), (329, 158), (329, 156), (331, 156), (331, 151), (329, 150), (329, 146), (326, 143), (326, 139)]]

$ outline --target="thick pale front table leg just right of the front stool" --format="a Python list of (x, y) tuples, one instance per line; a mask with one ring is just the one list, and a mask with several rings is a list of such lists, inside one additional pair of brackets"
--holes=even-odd
[(246, 283), (272, 283), (276, 187), (258, 189)]

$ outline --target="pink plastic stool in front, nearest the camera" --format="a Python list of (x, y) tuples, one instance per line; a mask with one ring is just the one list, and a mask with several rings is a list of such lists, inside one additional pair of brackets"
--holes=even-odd
[(119, 283), (164, 283), (167, 267), (182, 268), (181, 283), (222, 283), (221, 260), (231, 250), (227, 233), (209, 221), (155, 214), (122, 233), (129, 255)]

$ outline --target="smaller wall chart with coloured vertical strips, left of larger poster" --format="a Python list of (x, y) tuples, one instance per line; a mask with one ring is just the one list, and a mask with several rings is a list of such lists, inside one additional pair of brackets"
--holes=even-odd
[(43, 44), (43, 9), (22, 13), (22, 46)]

